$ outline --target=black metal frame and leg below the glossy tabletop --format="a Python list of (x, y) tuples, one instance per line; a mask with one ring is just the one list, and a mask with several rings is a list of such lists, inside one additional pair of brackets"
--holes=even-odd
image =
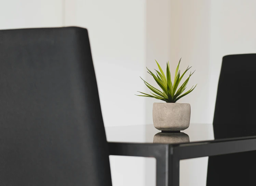
[(108, 145), (110, 155), (156, 158), (157, 186), (179, 186), (181, 159), (254, 151), (256, 136), (183, 144), (108, 142)]

